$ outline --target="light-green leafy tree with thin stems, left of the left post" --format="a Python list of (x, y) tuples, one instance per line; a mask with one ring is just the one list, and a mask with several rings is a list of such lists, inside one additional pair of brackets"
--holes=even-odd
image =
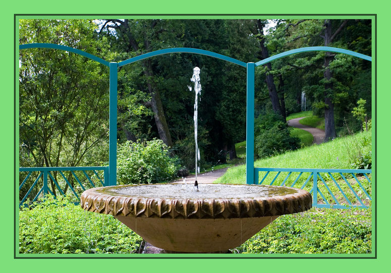
[[(64, 44), (99, 55), (104, 46), (95, 39), (95, 29), (87, 20), (21, 20), (20, 43)], [(33, 164), (88, 164), (91, 159), (86, 155), (93, 150), (102, 156), (93, 159), (95, 164), (106, 161), (107, 149), (97, 151), (107, 142), (107, 69), (78, 54), (53, 49), (21, 50), (20, 63), (20, 145), (27, 148)], [(53, 177), (57, 179), (57, 172)]]

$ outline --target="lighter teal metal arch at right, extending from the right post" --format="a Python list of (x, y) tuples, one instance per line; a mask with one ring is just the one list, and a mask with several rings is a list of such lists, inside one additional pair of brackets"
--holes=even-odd
[(259, 65), (268, 63), (268, 62), (270, 62), (272, 60), (280, 59), (282, 57), (289, 56), (289, 55), (292, 55), (292, 54), (296, 54), (296, 53), (300, 53), (300, 52), (309, 52), (309, 51), (338, 52), (338, 53), (344, 53), (344, 54), (352, 55), (352, 56), (355, 56), (355, 57), (358, 57), (358, 58), (361, 58), (361, 59), (364, 59), (364, 60), (372, 61), (372, 57), (371, 56), (367, 56), (367, 55), (364, 55), (364, 54), (361, 54), (361, 53), (357, 53), (357, 52), (354, 52), (354, 51), (351, 51), (351, 50), (347, 50), (347, 49), (342, 49), (342, 48), (338, 48), (338, 47), (329, 47), (329, 46), (310, 46), (310, 47), (302, 47), (302, 48), (292, 49), (292, 50), (288, 50), (288, 51), (285, 51), (285, 52), (280, 53), (280, 54), (276, 54), (274, 56), (271, 56), (271, 57), (268, 57), (266, 59), (263, 59), (263, 60), (260, 60), (260, 61), (256, 62), (255, 66), (259, 66)]

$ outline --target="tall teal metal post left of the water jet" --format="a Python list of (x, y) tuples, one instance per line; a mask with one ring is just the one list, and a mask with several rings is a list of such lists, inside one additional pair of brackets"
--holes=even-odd
[[(110, 62), (108, 185), (117, 185), (117, 77), (118, 63)], [(106, 182), (104, 183), (106, 184)]]

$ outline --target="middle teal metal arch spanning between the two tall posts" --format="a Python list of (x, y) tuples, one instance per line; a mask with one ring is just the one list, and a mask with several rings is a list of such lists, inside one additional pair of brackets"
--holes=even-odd
[(148, 53), (145, 53), (145, 54), (142, 54), (142, 55), (139, 55), (139, 56), (136, 56), (136, 57), (133, 57), (133, 58), (121, 61), (121, 62), (118, 63), (118, 67), (124, 66), (126, 64), (130, 64), (130, 63), (133, 63), (133, 62), (136, 62), (136, 61), (139, 61), (139, 60), (143, 60), (143, 59), (146, 59), (146, 58), (150, 58), (150, 57), (153, 57), (153, 56), (169, 54), (169, 53), (195, 53), (195, 54), (201, 54), (201, 55), (206, 55), (206, 56), (210, 56), (210, 57), (226, 60), (226, 61), (238, 64), (238, 65), (241, 65), (243, 67), (247, 66), (247, 64), (244, 61), (237, 60), (237, 59), (234, 59), (234, 58), (231, 58), (231, 57), (228, 57), (228, 56), (225, 56), (225, 55), (221, 55), (221, 54), (218, 54), (218, 53), (215, 53), (215, 52), (212, 52), (212, 51), (208, 51), (208, 50), (204, 50), (204, 49), (198, 49), (198, 48), (191, 48), (191, 47), (173, 47), (173, 48), (165, 48), (165, 49), (160, 49), (160, 50), (148, 52)]

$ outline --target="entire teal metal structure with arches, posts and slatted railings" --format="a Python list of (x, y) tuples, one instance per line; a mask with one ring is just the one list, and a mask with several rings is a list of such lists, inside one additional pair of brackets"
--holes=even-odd
[[(145, 54), (142, 54), (139, 56), (135, 56), (133, 58), (130, 58), (130, 59), (127, 59), (127, 60), (124, 60), (121, 62), (108, 62), (106, 60), (103, 60), (97, 56), (94, 56), (94, 55), (89, 54), (87, 52), (84, 52), (82, 50), (71, 48), (71, 47), (64, 46), (64, 45), (48, 44), (48, 43), (34, 43), (34, 44), (19, 45), (19, 49), (28, 49), (28, 48), (51, 48), (51, 49), (66, 50), (69, 52), (80, 54), (80, 55), (85, 56), (87, 58), (90, 58), (92, 60), (98, 61), (98, 62), (109, 67), (109, 149), (108, 149), (109, 162), (108, 162), (108, 166), (107, 167), (72, 167), (72, 168), (84, 168), (85, 171), (87, 170), (86, 168), (92, 168), (95, 170), (103, 170), (104, 171), (104, 180), (100, 180), (100, 181), (102, 182), (102, 185), (104, 185), (104, 186), (117, 184), (117, 91), (118, 91), (117, 90), (117, 78), (118, 78), (118, 69), (119, 69), (119, 67), (121, 67), (123, 65), (127, 65), (127, 64), (130, 64), (130, 63), (142, 60), (142, 59), (146, 59), (146, 58), (150, 58), (150, 57), (158, 56), (158, 55), (162, 55), (162, 54), (193, 53), (193, 54), (202, 54), (202, 55), (206, 55), (206, 56), (210, 56), (210, 57), (214, 57), (214, 58), (219, 58), (219, 59), (222, 59), (225, 61), (232, 62), (237, 65), (246, 67), (246, 70), (247, 70), (246, 183), (247, 184), (254, 184), (254, 183), (258, 183), (259, 172), (266, 171), (266, 177), (263, 177), (262, 181), (261, 181), (261, 183), (263, 183), (264, 181), (267, 180), (267, 176), (270, 172), (278, 170), (278, 169), (267, 169), (267, 168), (254, 168), (254, 82), (255, 82), (255, 69), (256, 69), (256, 67), (259, 65), (263, 65), (265, 63), (268, 63), (272, 60), (282, 58), (282, 57), (285, 57), (285, 56), (288, 56), (291, 54), (296, 54), (296, 53), (301, 53), (301, 52), (310, 52), (310, 51), (337, 52), (337, 53), (352, 55), (352, 56), (362, 58), (362, 59), (365, 59), (368, 61), (372, 61), (372, 57), (370, 57), (370, 56), (363, 55), (363, 54), (360, 54), (360, 53), (357, 53), (354, 51), (350, 51), (350, 50), (346, 50), (346, 49), (341, 49), (341, 48), (336, 48), (336, 47), (328, 47), (328, 46), (314, 46), (314, 47), (303, 47), (303, 48), (293, 49), (293, 50), (289, 50), (289, 51), (286, 51), (286, 52), (283, 52), (280, 54), (276, 54), (276, 55), (271, 56), (269, 58), (260, 60), (256, 63), (254, 63), (254, 62), (247, 62), (246, 63), (241, 60), (237, 60), (237, 59), (225, 56), (225, 55), (221, 55), (221, 54), (218, 54), (215, 52), (197, 49), (197, 48), (166, 48), (166, 49), (161, 49), (161, 50), (156, 50), (153, 52), (145, 53)], [(56, 169), (56, 168), (58, 168), (58, 169)], [(50, 177), (50, 179), (52, 179), (52, 183), (54, 183), (55, 186), (57, 186), (57, 188), (59, 189), (59, 192), (61, 193), (60, 185), (58, 185), (57, 181), (54, 181), (54, 178), (51, 175), (52, 171), (58, 171), (61, 174), (60, 178), (62, 177), (63, 183), (67, 183), (68, 187), (71, 188), (71, 190), (74, 192), (75, 196), (77, 198), (79, 198), (77, 192), (75, 190), (73, 190), (73, 187), (71, 187), (72, 183), (70, 183), (68, 181), (68, 179), (65, 177), (65, 175), (63, 174), (63, 171), (67, 171), (67, 170), (71, 171), (71, 173), (75, 176), (76, 181), (81, 185), (80, 179), (78, 179), (77, 176), (74, 174), (76, 169), (71, 170), (71, 169), (69, 169), (69, 167), (20, 168), (20, 172), (25, 172), (25, 171), (29, 172), (27, 174), (27, 177), (21, 183), (21, 185), (19, 187), (20, 190), (23, 187), (23, 185), (25, 183), (27, 183), (26, 181), (29, 179), (29, 176), (31, 175), (32, 172), (34, 172), (34, 171), (39, 172), (38, 177), (35, 179), (35, 181), (34, 182), (31, 181), (32, 186), (30, 187), (30, 189), (28, 190), (26, 195), (22, 198), (21, 203), (23, 203), (24, 200), (26, 200), (26, 198), (29, 196), (29, 194), (31, 194), (31, 192), (33, 191), (36, 184), (39, 183), (38, 181), (40, 181), (41, 177), (42, 177), (41, 180), (42, 180), (43, 184), (42, 184), (42, 187), (40, 188), (40, 190), (38, 191), (38, 193), (36, 194), (34, 200), (36, 200), (41, 193), (43, 193), (43, 194), (46, 194), (47, 192), (53, 193), (53, 192), (50, 192), (51, 190), (47, 186), (48, 176)], [(81, 170), (81, 169), (78, 169), (78, 170)], [(88, 169), (88, 170), (90, 170), (90, 169)], [(358, 173), (358, 172), (356, 172), (356, 170), (328, 170), (328, 171), (326, 171), (326, 170), (322, 170), (322, 169), (281, 169), (281, 171), (277, 171), (277, 175), (273, 179), (272, 184), (275, 181), (279, 181), (278, 179), (280, 179), (280, 178), (278, 178), (278, 177), (280, 176), (280, 174), (282, 172), (286, 172), (287, 170), (288, 170), (288, 175), (285, 179), (285, 182), (283, 181), (284, 182), (283, 184), (287, 184), (287, 181), (289, 181), (288, 179), (290, 176), (292, 176), (292, 173), (299, 172), (300, 176), (302, 176), (303, 173), (310, 174), (306, 180), (307, 181), (306, 183), (309, 183), (309, 184), (312, 183), (312, 188), (311, 188), (312, 193), (314, 192), (314, 188), (316, 189), (315, 192), (317, 194), (313, 194), (315, 207), (325, 207), (325, 206), (332, 207), (332, 208), (345, 208), (346, 206), (352, 206), (352, 207), (356, 206), (356, 207), (365, 207), (365, 208), (368, 207), (359, 198), (359, 194), (357, 194), (354, 191), (354, 187), (352, 186), (352, 184), (349, 183), (346, 176), (344, 176), (344, 173), (348, 174), (348, 177), (352, 176), (357, 181), (357, 183), (355, 182), (354, 185), (358, 184), (359, 186), (361, 186), (361, 189), (363, 190), (363, 192), (366, 193), (367, 198), (369, 198), (369, 200), (371, 200), (371, 197), (369, 196), (367, 190), (362, 186), (362, 182), (360, 182), (360, 180), (357, 178), (357, 176), (355, 176), (355, 174)], [(289, 170), (292, 170), (292, 171), (289, 171)], [(338, 177), (338, 179), (342, 177), (342, 179), (346, 182), (346, 185), (348, 185), (350, 187), (350, 189), (353, 191), (353, 194), (355, 195), (356, 199), (359, 200), (359, 203), (360, 203), (359, 205), (352, 203), (352, 201), (347, 197), (347, 195), (343, 191), (342, 187), (340, 187), (340, 184), (337, 182), (336, 177), (331, 175), (331, 173), (337, 173), (338, 176), (336, 175), (336, 177)], [(370, 170), (369, 171), (361, 171), (359, 173), (364, 174), (364, 177), (369, 181), (369, 184), (370, 184), (370, 180), (369, 180), (367, 174), (370, 174), (371, 171)], [(331, 180), (324, 180), (325, 174)], [(85, 174), (85, 175), (87, 176), (87, 180), (90, 180), (90, 179), (88, 179), (88, 175), (87, 174)], [(333, 198), (333, 200), (335, 201), (334, 204), (331, 204), (328, 201), (328, 199), (327, 199), (328, 195), (325, 196), (321, 192), (323, 186), (318, 186), (320, 184), (320, 183), (318, 183), (318, 179), (319, 179), (319, 181), (321, 181), (323, 183), (324, 187), (329, 192), (329, 196), (331, 196)], [(105, 181), (105, 182), (103, 183), (103, 181)], [(298, 178), (298, 181), (301, 181), (300, 177)], [(296, 183), (298, 181), (296, 181)], [(309, 182), (309, 181), (312, 181), (312, 182)], [(346, 197), (345, 198), (347, 200), (346, 206), (345, 206), (345, 204), (341, 204), (339, 202), (338, 198), (336, 198), (336, 196), (332, 193), (332, 191), (330, 190), (330, 187), (327, 185), (328, 181), (334, 182), (337, 185), (337, 188), (340, 190), (341, 194), (344, 197)], [(90, 182), (92, 182), (92, 181), (90, 180)], [(53, 189), (54, 184), (52, 184), (52, 189)], [(82, 188), (84, 188), (84, 187), (82, 186)], [(325, 203), (318, 203), (318, 199), (317, 199), (318, 193), (320, 194), (321, 199)]]

